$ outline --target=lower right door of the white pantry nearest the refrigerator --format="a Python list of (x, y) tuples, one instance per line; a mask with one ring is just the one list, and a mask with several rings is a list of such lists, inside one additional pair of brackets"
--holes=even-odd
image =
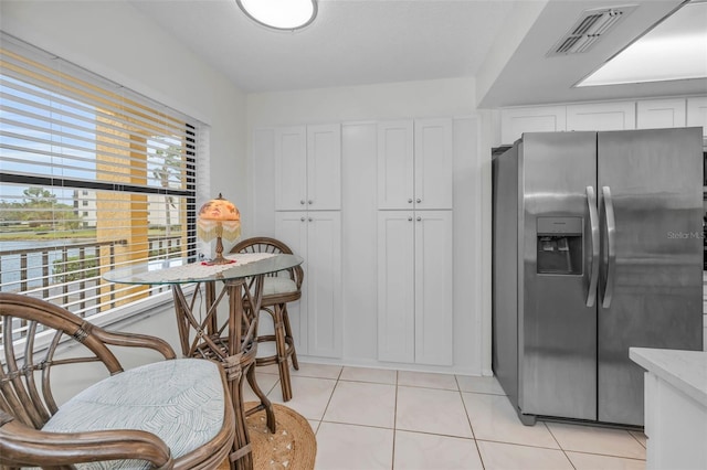
[(418, 211), (414, 227), (415, 362), (452, 365), (452, 211)]

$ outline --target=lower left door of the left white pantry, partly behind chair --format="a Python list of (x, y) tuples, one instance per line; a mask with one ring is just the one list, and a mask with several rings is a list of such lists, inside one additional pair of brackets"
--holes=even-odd
[(304, 258), (302, 268), (305, 273), (302, 285), (302, 297), (295, 302), (287, 303), (292, 335), (295, 349), (299, 354), (307, 354), (307, 286), (309, 285), (309, 257), (307, 256), (307, 213), (276, 212), (275, 238), (282, 241), (295, 255)]

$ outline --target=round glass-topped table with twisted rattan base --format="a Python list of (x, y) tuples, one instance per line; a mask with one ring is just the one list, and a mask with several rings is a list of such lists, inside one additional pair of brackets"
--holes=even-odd
[[(273, 407), (255, 381), (263, 278), (298, 266), (303, 258), (249, 253), (229, 255), (226, 259), (232, 263), (209, 265), (181, 258), (149, 261), (110, 270), (103, 278), (116, 284), (171, 287), (182, 354), (218, 361), (225, 370), (236, 417), (230, 467), (250, 470), (253, 456), (245, 417), (264, 409), (267, 427), (275, 431)], [(187, 286), (193, 286), (193, 290)], [(221, 305), (224, 307), (219, 308)], [(243, 406), (243, 377), (260, 399), (251, 409)]]

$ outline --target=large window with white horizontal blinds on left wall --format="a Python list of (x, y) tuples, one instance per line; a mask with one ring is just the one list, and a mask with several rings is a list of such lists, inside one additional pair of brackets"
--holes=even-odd
[(102, 274), (194, 257), (199, 122), (1, 39), (0, 290), (86, 318), (165, 290)]

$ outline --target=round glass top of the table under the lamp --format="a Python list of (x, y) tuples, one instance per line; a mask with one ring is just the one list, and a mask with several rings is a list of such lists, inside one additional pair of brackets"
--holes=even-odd
[(113, 269), (104, 274), (103, 278), (110, 282), (140, 285), (229, 280), (276, 273), (298, 266), (304, 260), (297, 255), (272, 253), (239, 253), (224, 257), (233, 263), (209, 265), (172, 258)]

